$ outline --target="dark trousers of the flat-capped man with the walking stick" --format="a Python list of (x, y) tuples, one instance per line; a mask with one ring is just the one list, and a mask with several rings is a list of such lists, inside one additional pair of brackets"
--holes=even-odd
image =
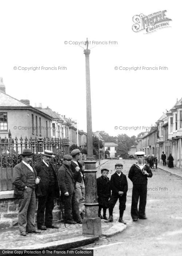
[(69, 196), (63, 196), (63, 204), (65, 208), (65, 221), (80, 221), (80, 213), (75, 193)]

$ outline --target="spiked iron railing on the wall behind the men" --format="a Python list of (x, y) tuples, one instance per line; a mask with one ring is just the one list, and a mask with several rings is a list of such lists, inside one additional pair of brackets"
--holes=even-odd
[(41, 161), (41, 154), (44, 150), (51, 150), (55, 155), (52, 158), (52, 163), (55, 169), (58, 170), (62, 165), (63, 155), (69, 154), (68, 139), (1, 139), (0, 138), (0, 191), (12, 190), (12, 174), (13, 167), (22, 161), (20, 154), (24, 148), (31, 148), (33, 155), (32, 165)]

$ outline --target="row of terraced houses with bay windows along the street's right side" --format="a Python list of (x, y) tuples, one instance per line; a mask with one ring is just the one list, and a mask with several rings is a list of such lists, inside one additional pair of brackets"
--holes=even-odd
[(138, 139), (136, 148), (146, 155), (154, 154), (159, 162), (162, 162), (163, 151), (167, 157), (172, 154), (174, 166), (182, 168), (182, 98), (162, 114), (155, 127)]

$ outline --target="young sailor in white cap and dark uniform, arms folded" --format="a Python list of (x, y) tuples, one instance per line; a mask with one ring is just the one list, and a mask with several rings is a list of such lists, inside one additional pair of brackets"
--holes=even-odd
[[(135, 155), (138, 162), (131, 166), (128, 178), (133, 182), (131, 217), (133, 221), (138, 221), (138, 218), (147, 219), (145, 214), (147, 201), (147, 177), (152, 177), (152, 171), (146, 163), (143, 163), (145, 152), (138, 151)], [(138, 210), (139, 197), (140, 203)]]

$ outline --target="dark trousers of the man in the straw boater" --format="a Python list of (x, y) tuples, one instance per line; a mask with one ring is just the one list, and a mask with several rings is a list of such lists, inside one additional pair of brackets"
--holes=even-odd
[[(54, 190), (55, 186), (49, 186), (45, 196), (39, 196), (37, 210), (37, 226), (51, 226), (53, 224), (53, 208), (54, 208)], [(46, 209), (46, 210), (45, 210)], [(44, 219), (45, 212), (45, 219)]]

